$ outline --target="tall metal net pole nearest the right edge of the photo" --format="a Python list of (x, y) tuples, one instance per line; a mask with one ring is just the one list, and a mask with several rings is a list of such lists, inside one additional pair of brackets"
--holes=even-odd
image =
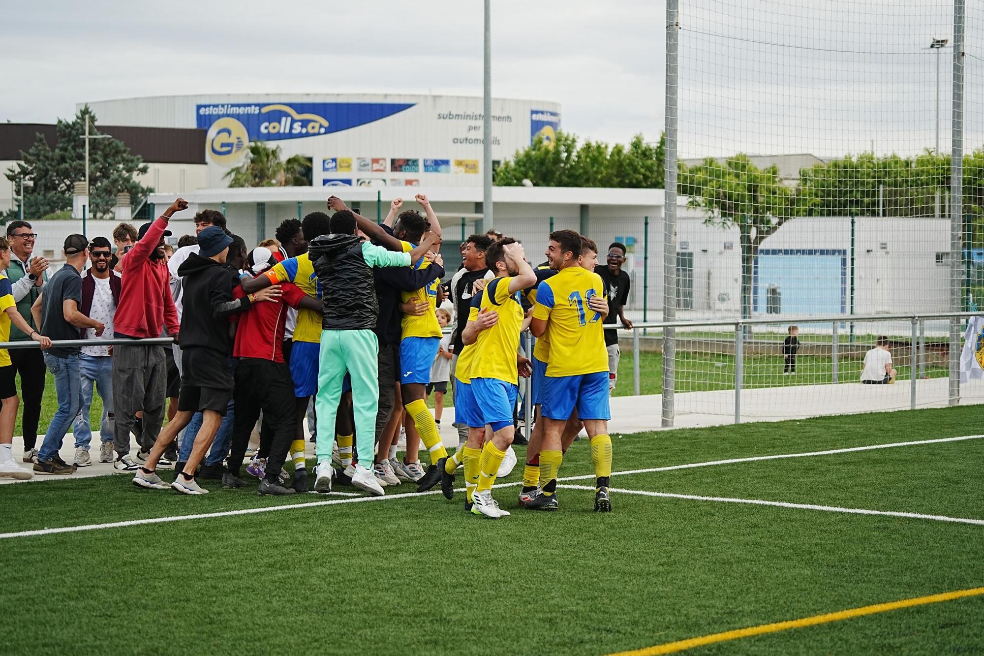
[[(950, 309), (960, 310), (960, 269), (963, 254), (960, 222), (963, 219), (963, 2), (953, 0), (953, 130), (951, 132), (950, 189)], [(960, 400), (960, 322), (950, 320), (950, 405)]]

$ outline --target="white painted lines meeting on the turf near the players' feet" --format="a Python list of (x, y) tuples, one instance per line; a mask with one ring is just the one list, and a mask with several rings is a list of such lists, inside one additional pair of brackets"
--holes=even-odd
[[(627, 470), (627, 471), (624, 471), (624, 472), (612, 472), (612, 476), (626, 476), (626, 475), (630, 475), (630, 474), (649, 474), (649, 473), (653, 473), (653, 472), (668, 472), (668, 471), (673, 471), (673, 470), (678, 470), (678, 469), (692, 469), (692, 468), (695, 468), (695, 467), (710, 467), (712, 465), (731, 465), (731, 464), (742, 463), (742, 462), (757, 462), (757, 461), (760, 461), (760, 460), (778, 460), (778, 459), (782, 459), (782, 458), (805, 458), (805, 457), (810, 457), (810, 456), (834, 455), (834, 454), (837, 454), (837, 453), (852, 453), (854, 451), (870, 451), (870, 450), (873, 450), (873, 449), (887, 449), (887, 448), (893, 448), (893, 447), (897, 447), (897, 446), (914, 446), (914, 445), (919, 445), (919, 444), (938, 444), (938, 443), (941, 443), (941, 442), (954, 442), (954, 441), (960, 441), (960, 440), (965, 440), (965, 439), (980, 439), (982, 437), (984, 437), (984, 435), (961, 435), (961, 436), (958, 436), (958, 437), (943, 437), (943, 438), (939, 438), (939, 439), (920, 439), (920, 440), (915, 440), (915, 441), (910, 441), (910, 442), (892, 442), (891, 444), (872, 444), (870, 446), (853, 446), (853, 447), (850, 447), (850, 448), (830, 449), (830, 450), (827, 450), (827, 451), (810, 451), (810, 452), (807, 452), (807, 453), (785, 453), (785, 454), (769, 455), (769, 456), (754, 456), (754, 457), (750, 457), (750, 458), (732, 458), (732, 459), (729, 459), (729, 460), (711, 460), (711, 461), (707, 461), (707, 462), (689, 463), (689, 464), (686, 464), (686, 465), (671, 465), (671, 466), (668, 466), (668, 467), (651, 467), (651, 468), (648, 468), (648, 469), (632, 469), (632, 470)], [(566, 481), (584, 481), (584, 480), (589, 480), (589, 479), (594, 479), (594, 475), (593, 474), (589, 474), (589, 475), (585, 475), (585, 476), (568, 476), (568, 477), (563, 477), (563, 478), (558, 479), (557, 482), (558, 483), (563, 483), (563, 482), (566, 482)], [(494, 487), (495, 488), (513, 488), (513, 487), (520, 486), (522, 484), (523, 484), (523, 481), (515, 481), (513, 483), (500, 483), (500, 484), (496, 484)], [(572, 489), (580, 489), (579, 487), (576, 487), (576, 486), (561, 486), (561, 487), (570, 487)], [(584, 488), (584, 489), (586, 490), (587, 488)], [(593, 488), (591, 488), (591, 490), (593, 490)], [(613, 489), (613, 491), (614, 490), (615, 489)], [(56, 528), (35, 529), (35, 530), (32, 530), (32, 531), (16, 531), (16, 532), (13, 532), (13, 533), (0, 533), (0, 540), (6, 540), (6, 539), (10, 539), (10, 538), (28, 538), (28, 537), (32, 537), (32, 536), (41, 536), (41, 535), (53, 535), (53, 534), (56, 534), (56, 533), (77, 533), (77, 532), (80, 532), (80, 531), (94, 531), (94, 530), (107, 529), (107, 528), (124, 528), (124, 527), (128, 527), (128, 526), (141, 526), (141, 525), (144, 525), (144, 524), (163, 524), (163, 523), (167, 523), (167, 522), (179, 522), (179, 521), (184, 521), (184, 520), (189, 520), (189, 519), (212, 519), (212, 518), (215, 518), (215, 517), (232, 517), (232, 516), (235, 516), (235, 515), (252, 515), (252, 514), (257, 514), (257, 513), (261, 513), (261, 512), (274, 512), (274, 511), (277, 511), (277, 510), (291, 510), (291, 509), (294, 509), (294, 508), (313, 508), (313, 507), (318, 507), (318, 506), (322, 506), (322, 505), (338, 505), (340, 503), (361, 503), (361, 502), (364, 502), (364, 501), (385, 501), (385, 500), (388, 500), (388, 499), (398, 499), (398, 498), (407, 498), (407, 497), (412, 497), (412, 496), (423, 496), (423, 495), (428, 495), (428, 494), (437, 494), (439, 492), (440, 491), (433, 491), (432, 490), (430, 492), (422, 492), (422, 493), (421, 492), (403, 492), (403, 493), (400, 493), (400, 494), (387, 494), (385, 496), (356, 496), (356, 497), (350, 497), (350, 498), (327, 499), (327, 500), (323, 500), (323, 501), (309, 501), (307, 503), (290, 503), (290, 504), (285, 504), (285, 505), (272, 505), (272, 506), (267, 506), (267, 507), (262, 507), (262, 508), (242, 508), (242, 509), (239, 509), (239, 510), (223, 510), (221, 512), (207, 512), (207, 513), (199, 513), (199, 514), (191, 514), (191, 515), (171, 515), (169, 517), (150, 517), (150, 518), (147, 518), (147, 519), (131, 519), (131, 520), (128, 520), (128, 521), (107, 522), (107, 523), (104, 523), (104, 524), (83, 524), (81, 526), (62, 526), (62, 527), (56, 527)], [(463, 492), (463, 490), (458, 490), (457, 492)], [(811, 508), (811, 509), (830, 509), (828, 506), (807, 506), (807, 505), (796, 504), (796, 503), (783, 503), (781, 501), (762, 501), (762, 500), (755, 500), (755, 499), (729, 499), (729, 498), (725, 498), (725, 497), (717, 498), (717, 497), (710, 497), (710, 496), (693, 496), (693, 495), (686, 495), (686, 494), (670, 494), (668, 492), (632, 492), (632, 491), (622, 491), (622, 490), (620, 490), (618, 492), (645, 493), (645, 494), (652, 494), (652, 495), (656, 495), (656, 496), (678, 496), (680, 498), (693, 498), (693, 499), (702, 499), (702, 500), (721, 500), (721, 501), (731, 501), (731, 502), (757, 503), (757, 504), (761, 504), (761, 505), (779, 505), (779, 506), (783, 506), (783, 507), (792, 507), (792, 508), (803, 507), (803, 508)], [(350, 492), (332, 492), (332, 493), (333, 494), (339, 494), (339, 495), (341, 495), (341, 494), (348, 494)], [(935, 515), (919, 515), (919, 514), (915, 514), (915, 513), (891, 513), (891, 512), (881, 512), (881, 511), (878, 511), (878, 510), (851, 510), (849, 508), (847, 508), (847, 509), (837, 508), (837, 510), (845, 511), (845, 512), (856, 512), (856, 513), (860, 513), (860, 514), (892, 514), (892, 515), (896, 515), (896, 516), (900, 516), (900, 517), (915, 517), (915, 518), (930, 518), (930, 519), (937, 518), (937, 516), (935, 516)], [(959, 519), (959, 518), (949, 518), (949, 519), (944, 519), (943, 521), (957, 521), (957, 522), (965, 522), (965, 523), (981, 523), (981, 524), (984, 524), (984, 520), (975, 520), (975, 519), (967, 519), (967, 520), (964, 520), (964, 519)]]

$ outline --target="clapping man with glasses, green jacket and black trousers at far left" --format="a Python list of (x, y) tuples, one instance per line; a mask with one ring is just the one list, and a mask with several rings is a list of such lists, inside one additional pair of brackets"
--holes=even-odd
[[(10, 279), (17, 311), (31, 326), (38, 330), (31, 317), (31, 305), (41, 295), (48, 281), (48, 261), (43, 257), (32, 257), (37, 233), (31, 230), (26, 221), (12, 221), (7, 224), (7, 240), (10, 242)], [(28, 337), (17, 326), (10, 328), (12, 342), (27, 342)], [(47, 367), (40, 349), (11, 349), (10, 360), (14, 372), (21, 374), (21, 403), (23, 404), (24, 462), (34, 462), (37, 458), (37, 424), (41, 417), (41, 397), (44, 396), (44, 376)]]

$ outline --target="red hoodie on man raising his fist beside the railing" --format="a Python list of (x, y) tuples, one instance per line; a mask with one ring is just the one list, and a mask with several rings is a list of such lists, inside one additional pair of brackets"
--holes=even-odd
[(166, 228), (167, 218), (158, 217), (122, 259), (123, 287), (113, 316), (117, 337), (160, 337), (165, 325), (169, 335), (178, 334), (180, 322), (171, 297), (170, 273), (162, 259), (151, 259)]

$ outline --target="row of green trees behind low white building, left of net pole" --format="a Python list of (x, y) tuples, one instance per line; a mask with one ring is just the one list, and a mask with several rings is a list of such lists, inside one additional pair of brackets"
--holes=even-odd
[(577, 135), (557, 133), (553, 144), (539, 137), (496, 170), (495, 184), (520, 186), (527, 179), (541, 187), (637, 187), (661, 189), (665, 138), (647, 144), (637, 134), (628, 147), (600, 141), (578, 145)]

